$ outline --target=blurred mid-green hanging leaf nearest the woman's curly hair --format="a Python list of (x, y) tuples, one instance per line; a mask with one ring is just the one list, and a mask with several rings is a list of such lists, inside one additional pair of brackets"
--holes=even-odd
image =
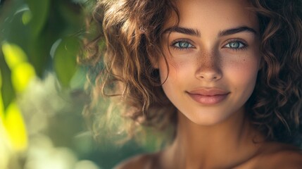
[(70, 86), (77, 70), (77, 54), (80, 49), (80, 40), (76, 37), (62, 39), (54, 53), (54, 70), (63, 87)]

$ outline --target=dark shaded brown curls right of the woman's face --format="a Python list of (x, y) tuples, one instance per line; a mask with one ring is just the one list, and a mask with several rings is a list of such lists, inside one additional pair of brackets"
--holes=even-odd
[(253, 0), (263, 68), (248, 102), (251, 121), (271, 141), (301, 144), (301, 1)]

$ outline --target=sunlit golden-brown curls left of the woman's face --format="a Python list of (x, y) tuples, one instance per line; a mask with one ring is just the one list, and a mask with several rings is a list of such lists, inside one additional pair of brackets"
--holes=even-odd
[[(118, 97), (122, 116), (133, 120), (129, 134), (137, 124), (160, 130), (175, 124), (176, 109), (163, 93), (159, 72), (153, 68), (163, 55), (162, 27), (172, 11), (175, 6), (168, 0), (102, 0), (96, 4), (93, 18), (103, 32), (87, 44), (85, 60), (92, 63), (93, 70), (103, 63), (96, 75), (95, 98), (100, 92)], [(99, 49), (103, 39), (105, 51)]]

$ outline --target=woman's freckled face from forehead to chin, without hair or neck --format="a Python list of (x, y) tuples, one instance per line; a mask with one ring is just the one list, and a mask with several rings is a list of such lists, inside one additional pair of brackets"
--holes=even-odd
[(244, 113), (260, 68), (258, 20), (249, 7), (246, 0), (179, 0), (179, 25), (172, 15), (164, 26), (163, 90), (196, 124)]

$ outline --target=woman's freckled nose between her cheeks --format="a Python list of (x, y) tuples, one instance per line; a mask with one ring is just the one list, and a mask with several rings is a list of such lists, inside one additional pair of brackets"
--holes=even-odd
[(221, 63), (218, 54), (200, 54), (196, 78), (199, 80), (216, 81), (222, 78)]

